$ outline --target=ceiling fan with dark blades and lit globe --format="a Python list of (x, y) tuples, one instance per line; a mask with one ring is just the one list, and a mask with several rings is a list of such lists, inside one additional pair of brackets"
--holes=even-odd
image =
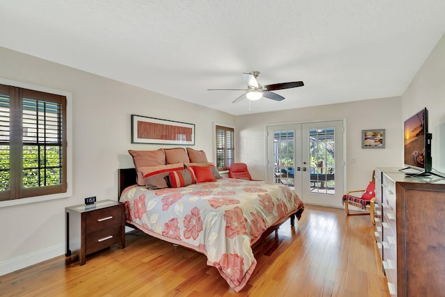
[(207, 90), (245, 90), (245, 93), (240, 97), (236, 98), (233, 103), (240, 102), (241, 100), (247, 98), (249, 100), (258, 100), (261, 97), (266, 97), (268, 99), (273, 99), (275, 101), (282, 101), (284, 97), (273, 93), (273, 90), (283, 90), (288, 88), (297, 88), (305, 86), (302, 81), (292, 81), (289, 83), (273, 83), (271, 85), (261, 86), (257, 77), (259, 77), (259, 71), (252, 71), (250, 73), (243, 73), (243, 79), (248, 85), (247, 89), (207, 89)]

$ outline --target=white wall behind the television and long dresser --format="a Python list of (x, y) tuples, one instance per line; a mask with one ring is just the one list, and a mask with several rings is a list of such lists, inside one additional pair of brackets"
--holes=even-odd
[(445, 34), (403, 93), (403, 120), (423, 107), (428, 109), (432, 133), (432, 168), (445, 173)]

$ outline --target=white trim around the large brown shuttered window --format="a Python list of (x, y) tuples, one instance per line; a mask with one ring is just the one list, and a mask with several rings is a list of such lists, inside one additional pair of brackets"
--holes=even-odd
[(1, 77), (0, 77), (0, 84), (7, 86), (15, 86), (19, 88), (27, 88), (29, 90), (38, 90), (40, 92), (46, 92), (56, 95), (62, 95), (67, 98), (67, 191), (65, 193), (0, 201), (0, 207), (10, 207), (20, 204), (29, 204), (34, 202), (71, 197), (72, 196), (72, 93), (65, 92), (63, 90), (45, 88), (42, 86), (35, 86), (31, 83), (10, 81), (9, 79), (2, 79)]

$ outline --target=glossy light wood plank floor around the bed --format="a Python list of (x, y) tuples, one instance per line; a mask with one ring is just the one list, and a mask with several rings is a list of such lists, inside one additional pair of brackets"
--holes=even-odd
[(140, 232), (127, 248), (97, 252), (86, 265), (56, 257), (0, 277), (0, 296), (389, 296), (369, 216), (306, 205), (254, 249), (257, 267), (239, 293), (207, 258)]

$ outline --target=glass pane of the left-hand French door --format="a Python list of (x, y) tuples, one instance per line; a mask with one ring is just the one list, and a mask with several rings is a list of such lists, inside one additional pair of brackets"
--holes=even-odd
[(294, 186), (295, 130), (273, 131), (274, 181)]

